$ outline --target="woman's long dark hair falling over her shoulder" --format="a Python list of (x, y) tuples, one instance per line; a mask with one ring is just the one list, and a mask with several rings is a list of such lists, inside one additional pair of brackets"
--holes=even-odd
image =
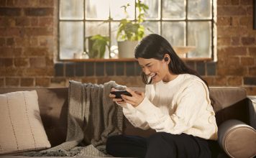
[[(135, 47), (134, 55), (135, 58), (142, 57), (144, 59), (154, 58), (156, 60), (163, 60), (165, 54), (170, 55), (170, 63), (169, 63), (169, 70), (174, 73), (175, 75), (188, 73), (191, 75), (196, 75), (198, 78), (201, 76), (191, 68), (188, 68), (186, 64), (178, 57), (176, 52), (173, 50), (173, 47), (170, 43), (165, 40), (164, 37), (160, 36), (159, 34), (149, 34), (144, 37), (140, 43)], [(206, 83), (208, 87), (208, 83), (206, 80), (201, 78), (201, 80)], [(145, 73), (142, 72), (142, 81), (145, 84), (150, 84), (147, 82), (147, 76)]]

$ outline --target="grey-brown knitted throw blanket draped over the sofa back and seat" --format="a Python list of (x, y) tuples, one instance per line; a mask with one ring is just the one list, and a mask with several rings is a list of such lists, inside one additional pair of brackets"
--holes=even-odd
[(66, 141), (57, 147), (24, 155), (110, 157), (105, 152), (106, 139), (111, 135), (122, 134), (123, 129), (122, 108), (109, 98), (111, 88), (124, 89), (124, 86), (114, 81), (97, 85), (71, 80)]

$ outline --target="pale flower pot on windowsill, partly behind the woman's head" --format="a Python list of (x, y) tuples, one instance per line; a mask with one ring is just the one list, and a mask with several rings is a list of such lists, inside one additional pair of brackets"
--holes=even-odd
[(138, 41), (120, 41), (117, 42), (119, 58), (134, 58), (134, 48)]

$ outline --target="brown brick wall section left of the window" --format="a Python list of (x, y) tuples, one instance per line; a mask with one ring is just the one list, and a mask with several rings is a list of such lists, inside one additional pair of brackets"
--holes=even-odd
[(54, 77), (52, 0), (0, 0), (0, 86), (49, 86)]

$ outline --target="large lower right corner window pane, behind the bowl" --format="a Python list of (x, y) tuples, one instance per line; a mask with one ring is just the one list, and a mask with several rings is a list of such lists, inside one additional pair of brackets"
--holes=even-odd
[(211, 57), (211, 22), (188, 22), (188, 45), (196, 46), (188, 57)]

